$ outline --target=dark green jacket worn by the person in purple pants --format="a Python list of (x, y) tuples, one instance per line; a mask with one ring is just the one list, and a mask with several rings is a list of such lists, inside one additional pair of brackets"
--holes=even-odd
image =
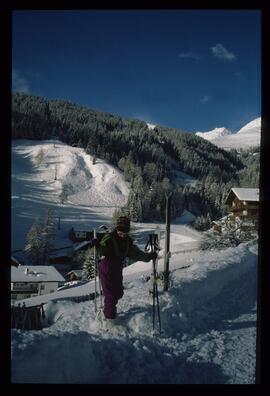
[(123, 261), (127, 257), (130, 263), (151, 260), (151, 253), (140, 250), (129, 235), (120, 238), (116, 231), (103, 236), (98, 244), (98, 250), (101, 256), (105, 256), (111, 261)]

